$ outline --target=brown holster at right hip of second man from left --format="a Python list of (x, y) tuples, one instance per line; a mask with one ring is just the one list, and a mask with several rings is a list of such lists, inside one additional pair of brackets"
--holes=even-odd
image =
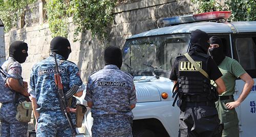
[(86, 106), (82, 104), (77, 104), (76, 105), (76, 127), (81, 127), (82, 126), (82, 121), (84, 118), (84, 114), (86, 114)]

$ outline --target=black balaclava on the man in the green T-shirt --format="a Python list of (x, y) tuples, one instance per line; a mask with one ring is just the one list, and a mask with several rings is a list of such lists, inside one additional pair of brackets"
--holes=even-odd
[(223, 50), (222, 40), (218, 36), (212, 36), (210, 37), (210, 44), (219, 44), (219, 47), (213, 47), (208, 50), (211, 58), (214, 59), (217, 65), (220, 65), (226, 57)]

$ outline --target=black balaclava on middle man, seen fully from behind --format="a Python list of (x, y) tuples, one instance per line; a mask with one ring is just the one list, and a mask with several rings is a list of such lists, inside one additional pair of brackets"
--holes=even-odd
[(104, 50), (105, 65), (116, 65), (119, 69), (122, 66), (122, 51), (115, 46), (109, 46)]

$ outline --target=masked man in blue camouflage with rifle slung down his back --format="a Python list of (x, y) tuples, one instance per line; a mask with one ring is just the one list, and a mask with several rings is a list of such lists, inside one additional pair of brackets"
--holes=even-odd
[[(32, 96), (33, 112), (36, 120), (36, 136), (72, 136), (72, 128), (67, 117), (62, 114), (58, 98), (58, 89), (55, 86), (55, 58), (61, 76), (63, 93), (68, 113), (73, 125), (75, 123), (76, 99), (82, 95), (85, 86), (82, 84), (79, 69), (76, 64), (67, 61), (71, 53), (71, 45), (64, 37), (55, 37), (50, 43), (50, 57), (33, 66), (30, 77), (30, 91)], [(78, 89), (72, 89), (72, 87)], [(68, 96), (70, 95), (70, 96)], [(75, 129), (74, 129), (75, 130)]]

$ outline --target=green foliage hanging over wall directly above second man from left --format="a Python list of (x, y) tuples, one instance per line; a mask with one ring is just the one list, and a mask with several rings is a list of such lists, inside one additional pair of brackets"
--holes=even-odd
[(93, 37), (103, 40), (108, 37), (108, 27), (112, 23), (116, 0), (48, 0), (46, 11), (49, 28), (53, 36), (68, 35), (68, 17), (76, 25), (75, 41), (79, 33), (90, 30)]

